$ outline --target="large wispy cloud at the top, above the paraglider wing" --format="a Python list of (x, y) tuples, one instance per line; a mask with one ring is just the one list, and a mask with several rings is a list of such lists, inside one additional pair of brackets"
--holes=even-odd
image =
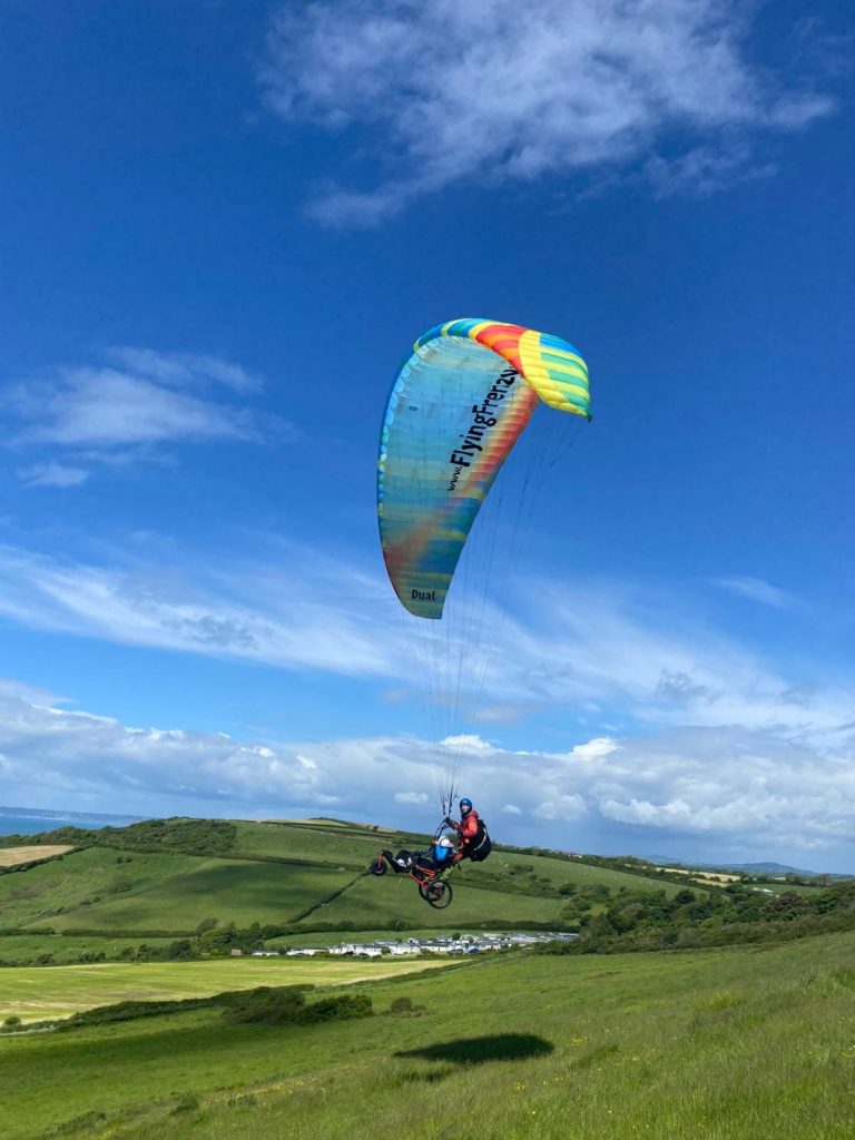
[[(746, 177), (752, 132), (832, 109), (755, 65), (749, 34), (733, 0), (536, 0), (524, 19), (514, 0), (296, 2), (271, 23), (260, 81), (285, 120), (377, 129), (378, 185), (327, 186), (314, 205), (325, 222), (373, 225), (466, 179), (636, 160), (660, 193), (709, 193)], [(694, 141), (650, 165), (669, 133)], [(353, 147), (370, 153), (365, 133)]]

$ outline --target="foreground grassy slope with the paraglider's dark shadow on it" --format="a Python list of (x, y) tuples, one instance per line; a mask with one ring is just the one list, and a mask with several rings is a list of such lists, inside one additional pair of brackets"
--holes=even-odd
[[(526, 954), (361, 985), (363, 1020), (206, 1009), (0, 1037), (3, 1124), (8, 1140), (850, 1140), (854, 961), (852, 933)], [(404, 996), (424, 1010), (391, 1012)]]

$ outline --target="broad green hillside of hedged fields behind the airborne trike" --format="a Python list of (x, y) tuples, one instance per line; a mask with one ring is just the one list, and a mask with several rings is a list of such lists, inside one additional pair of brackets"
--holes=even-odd
[[(60, 842), (76, 849), (50, 858)], [(341, 929), (461, 925), (560, 925), (570, 893), (597, 885), (662, 889), (679, 883), (642, 879), (611, 866), (496, 850), (480, 866), (455, 872), (456, 898), (432, 911), (414, 883), (364, 872), (381, 846), (418, 848), (427, 837), (331, 820), (292, 822), (154, 820), (100, 831), (60, 829), (30, 837), (46, 862), (0, 874), (0, 930), (100, 935), (85, 951), (115, 956), (117, 939), (186, 936), (207, 919), (239, 928)], [(9, 845), (11, 846), (11, 844)], [(592, 904), (596, 911), (597, 904)], [(562, 917), (563, 915), (563, 917)], [(3, 948), (0, 960), (21, 961)], [(120, 947), (122, 948), (122, 947)], [(55, 961), (66, 961), (64, 948)], [(46, 951), (32, 947), (36, 960)], [(24, 958), (24, 960), (26, 960)]]

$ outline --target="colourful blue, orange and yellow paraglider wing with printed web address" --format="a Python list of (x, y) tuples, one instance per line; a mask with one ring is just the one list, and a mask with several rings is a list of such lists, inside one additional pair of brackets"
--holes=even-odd
[(392, 586), (416, 617), (442, 617), (481, 504), (540, 401), (589, 420), (588, 370), (568, 341), (520, 325), (438, 325), (401, 366), (381, 431), (377, 514)]

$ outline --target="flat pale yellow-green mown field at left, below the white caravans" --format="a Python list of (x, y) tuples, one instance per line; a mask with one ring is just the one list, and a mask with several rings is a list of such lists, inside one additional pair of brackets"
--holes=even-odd
[(406, 959), (219, 959), (210, 962), (116, 962), (0, 970), (0, 1023), (70, 1017), (120, 1001), (207, 997), (256, 986), (349, 985), (435, 969), (442, 962)]

